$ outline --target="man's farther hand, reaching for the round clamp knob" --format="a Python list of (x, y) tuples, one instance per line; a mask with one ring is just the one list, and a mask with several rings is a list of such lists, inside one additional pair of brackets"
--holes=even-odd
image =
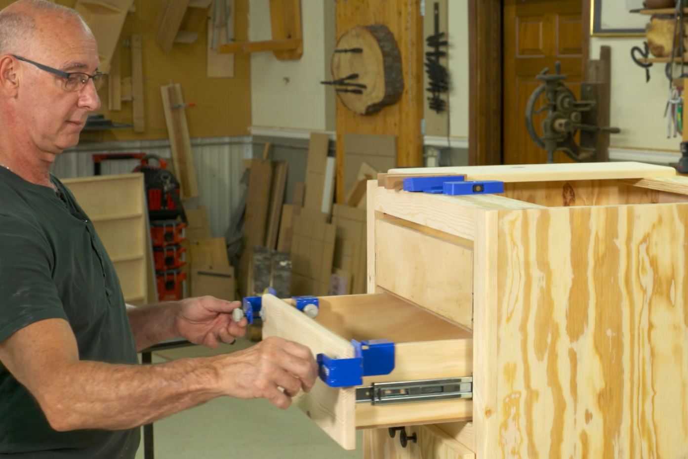
[(241, 308), (239, 301), (224, 301), (215, 297), (182, 299), (175, 314), (178, 336), (194, 344), (216, 349), (219, 343), (233, 343), (246, 333), (246, 318), (232, 320), (232, 311)]

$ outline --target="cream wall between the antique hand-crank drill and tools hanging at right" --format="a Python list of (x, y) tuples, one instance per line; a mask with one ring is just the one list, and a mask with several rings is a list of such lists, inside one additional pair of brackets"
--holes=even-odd
[(610, 136), (610, 147), (679, 151), (680, 135), (667, 139), (665, 64), (653, 65), (645, 83), (645, 70), (631, 60), (631, 48), (642, 47), (642, 36), (590, 37), (591, 59), (599, 58), (603, 45), (612, 47), (611, 124), (621, 128)]

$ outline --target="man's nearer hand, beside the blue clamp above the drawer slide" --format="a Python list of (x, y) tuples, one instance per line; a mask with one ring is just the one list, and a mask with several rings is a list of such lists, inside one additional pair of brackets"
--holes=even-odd
[(215, 363), (225, 395), (267, 398), (281, 409), (290, 407), (299, 390), (310, 392), (318, 376), (318, 364), (310, 349), (277, 337), (217, 356)]

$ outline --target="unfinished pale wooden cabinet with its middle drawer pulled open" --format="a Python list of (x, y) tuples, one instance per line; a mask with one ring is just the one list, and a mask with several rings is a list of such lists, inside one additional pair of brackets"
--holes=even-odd
[(639, 163), (389, 173), (505, 192), (368, 182), (369, 295), (322, 298), (316, 320), (264, 297), (264, 330), (341, 358), (350, 339), (390, 339), (394, 372), (364, 385), (472, 376), (472, 401), (371, 405), (319, 383), (301, 409), (346, 448), (366, 429), (369, 459), (685, 457), (688, 178)]

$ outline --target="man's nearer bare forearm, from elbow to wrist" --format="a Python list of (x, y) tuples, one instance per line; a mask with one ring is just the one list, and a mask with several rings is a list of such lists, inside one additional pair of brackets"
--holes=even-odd
[(52, 387), (36, 394), (57, 430), (129, 429), (222, 395), (212, 357), (161, 365), (76, 361), (61, 366), (54, 369)]

